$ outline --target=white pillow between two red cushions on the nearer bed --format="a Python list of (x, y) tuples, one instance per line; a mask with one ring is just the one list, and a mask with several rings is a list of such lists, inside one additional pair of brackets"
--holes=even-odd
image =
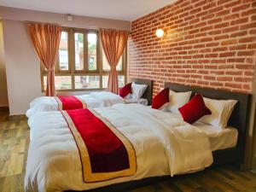
[(192, 91), (188, 92), (174, 92), (169, 90), (170, 102), (166, 105), (166, 111), (179, 113), (178, 108), (183, 107), (184, 104), (189, 102)]

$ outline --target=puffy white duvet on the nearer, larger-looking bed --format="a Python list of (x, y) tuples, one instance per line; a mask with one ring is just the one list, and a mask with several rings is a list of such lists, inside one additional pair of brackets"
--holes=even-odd
[(26, 162), (26, 191), (94, 189), (143, 177), (195, 172), (212, 164), (207, 135), (172, 113), (139, 104), (95, 110), (131, 141), (137, 154), (137, 173), (84, 183), (79, 150), (61, 113), (37, 113), (29, 119), (32, 141)]

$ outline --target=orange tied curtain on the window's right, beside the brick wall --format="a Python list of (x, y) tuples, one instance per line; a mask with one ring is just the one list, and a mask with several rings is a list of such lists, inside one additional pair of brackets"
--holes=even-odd
[(118, 73), (116, 66), (119, 59), (124, 52), (129, 32), (122, 32), (116, 30), (100, 29), (100, 37), (102, 39), (102, 47), (108, 64), (110, 66), (110, 72), (108, 76), (108, 90), (118, 94)]

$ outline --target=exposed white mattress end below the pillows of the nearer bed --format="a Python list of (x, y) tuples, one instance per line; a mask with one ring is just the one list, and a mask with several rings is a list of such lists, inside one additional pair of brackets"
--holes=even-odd
[(212, 151), (236, 147), (238, 131), (235, 128), (226, 127), (225, 129), (220, 129), (201, 122), (195, 122), (193, 125), (207, 134)]

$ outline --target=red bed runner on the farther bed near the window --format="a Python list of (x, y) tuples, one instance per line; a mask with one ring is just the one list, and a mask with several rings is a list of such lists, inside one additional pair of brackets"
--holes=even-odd
[(87, 108), (86, 103), (77, 96), (55, 96), (55, 100), (58, 102), (59, 111)]

